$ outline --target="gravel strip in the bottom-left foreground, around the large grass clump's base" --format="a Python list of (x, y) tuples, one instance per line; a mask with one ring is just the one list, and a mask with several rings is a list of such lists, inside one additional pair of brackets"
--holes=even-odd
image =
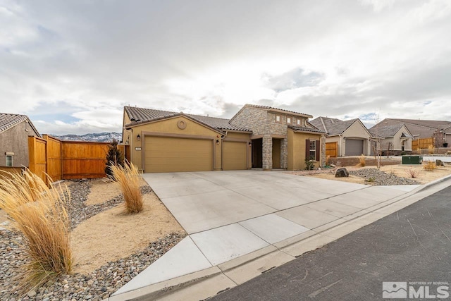
[(116, 262), (109, 262), (89, 275), (61, 276), (54, 282), (20, 296), (16, 286), (18, 281), (14, 280), (20, 276), (20, 266), (26, 263), (23, 247), (19, 243), (20, 234), (8, 230), (0, 231), (0, 251), (4, 254), (0, 259), (0, 300), (103, 300), (140, 274), (184, 237), (185, 235), (179, 233), (166, 235), (150, 243), (144, 250)]

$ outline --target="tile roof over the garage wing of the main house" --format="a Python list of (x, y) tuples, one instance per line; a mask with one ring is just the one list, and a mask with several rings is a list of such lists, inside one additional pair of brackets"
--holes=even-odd
[(203, 123), (205, 125), (208, 125), (211, 128), (216, 128), (218, 130), (238, 130), (242, 132), (249, 132), (251, 133), (252, 130), (249, 130), (247, 128), (240, 128), (235, 125), (231, 125), (229, 123), (228, 119), (225, 118), (217, 118), (217, 117), (210, 117), (210, 116), (200, 116), (200, 115), (194, 115), (194, 114), (186, 114), (186, 113), (177, 113), (177, 112), (171, 112), (171, 111), (161, 111), (161, 110), (155, 110), (155, 109), (144, 109), (144, 108), (137, 108), (133, 106), (125, 106), (124, 107), (125, 112), (127, 112), (128, 117), (130, 118), (130, 125), (136, 125), (140, 123), (147, 123), (149, 121), (157, 121), (164, 118), (170, 118), (173, 116), (188, 116), (190, 118), (193, 118), (194, 120)]

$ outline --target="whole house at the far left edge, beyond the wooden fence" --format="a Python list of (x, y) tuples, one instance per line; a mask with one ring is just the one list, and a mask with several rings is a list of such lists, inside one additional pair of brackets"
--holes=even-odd
[(28, 136), (40, 137), (27, 116), (0, 113), (0, 168), (28, 167)]

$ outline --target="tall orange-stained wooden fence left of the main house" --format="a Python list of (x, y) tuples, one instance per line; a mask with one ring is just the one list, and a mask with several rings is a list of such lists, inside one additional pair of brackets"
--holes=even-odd
[(103, 178), (108, 142), (61, 141), (49, 135), (28, 137), (30, 171), (52, 180)]

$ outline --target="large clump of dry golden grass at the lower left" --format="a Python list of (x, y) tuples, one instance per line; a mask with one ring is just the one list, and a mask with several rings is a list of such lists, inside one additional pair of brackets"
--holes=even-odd
[[(51, 183), (51, 180), (50, 180)], [(22, 287), (42, 285), (72, 269), (70, 219), (66, 205), (70, 202), (61, 186), (50, 188), (29, 170), (20, 174), (0, 174), (0, 208), (24, 237), (29, 262), (24, 266)]]

